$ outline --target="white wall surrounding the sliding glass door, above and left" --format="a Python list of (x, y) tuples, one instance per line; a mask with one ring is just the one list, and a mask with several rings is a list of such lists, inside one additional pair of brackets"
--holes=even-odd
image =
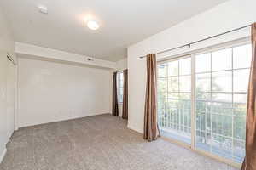
[[(255, 0), (230, 0), (202, 14), (185, 20), (177, 26), (162, 31), (143, 42), (138, 42), (128, 48), (129, 69), (129, 120), (128, 127), (143, 133), (143, 116), (146, 86), (146, 60), (139, 56), (159, 52), (168, 48), (200, 40), (201, 38), (230, 31), (256, 21)], [(220, 42), (231, 41), (250, 35), (249, 29), (237, 31), (225, 37), (214, 38), (200, 42), (190, 49), (177, 50), (169, 54), (161, 54), (159, 59), (172, 54), (181, 54), (189, 50), (206, 48)]]

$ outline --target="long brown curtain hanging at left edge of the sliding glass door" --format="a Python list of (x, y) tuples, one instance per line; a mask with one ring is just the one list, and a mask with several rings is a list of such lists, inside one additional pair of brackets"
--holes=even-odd
[(144, 139), (149, 142), (158, 137), (157, 94), (156, 94), (156, 59), (155, 54), (147, 55), (147, 85), (144, 110)]

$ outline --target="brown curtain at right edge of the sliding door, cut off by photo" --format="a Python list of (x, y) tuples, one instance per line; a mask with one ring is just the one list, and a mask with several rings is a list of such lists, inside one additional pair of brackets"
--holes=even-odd
[(252, 26), (253, 58), (247, 97), (246, 157), (242, 170), (256, 169), (256, 23)]

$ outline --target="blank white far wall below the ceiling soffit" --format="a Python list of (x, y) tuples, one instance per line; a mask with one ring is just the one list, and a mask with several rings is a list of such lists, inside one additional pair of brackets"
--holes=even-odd
[(18, 58), (19, 127), (110, 112), (110, 71)]

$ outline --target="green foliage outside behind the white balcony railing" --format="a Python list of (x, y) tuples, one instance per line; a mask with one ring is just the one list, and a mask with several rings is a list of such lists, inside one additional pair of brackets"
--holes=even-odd
[[(172, 93), (178, 89), (177, 79), (159, 78), (158, 81), (158, 115), (160, 127), (168, 127), (177, 131), (190, 133), (191, 102), (190, 93)], [(173, 81), (174, 80), (174, 81)], [(167, 83), (169, 93), (167, 92)], [(221, 92), (222, 89), (212, 77), (212, 88)], [(232, 137), (245, 139), (245, 104), (232, 105), (230, 102), (216, 101), (217, 95), (202, 92), (202, 87), (195, 89), (196, 130), (202, 143), (209, 139), (219, 143), (232, 143)], [(176, 126), (174, 125), (176, 124)], [(232, 136), (232, 127), (233, 136)], [(211, 138), (211, 131), (214, 138)]]

